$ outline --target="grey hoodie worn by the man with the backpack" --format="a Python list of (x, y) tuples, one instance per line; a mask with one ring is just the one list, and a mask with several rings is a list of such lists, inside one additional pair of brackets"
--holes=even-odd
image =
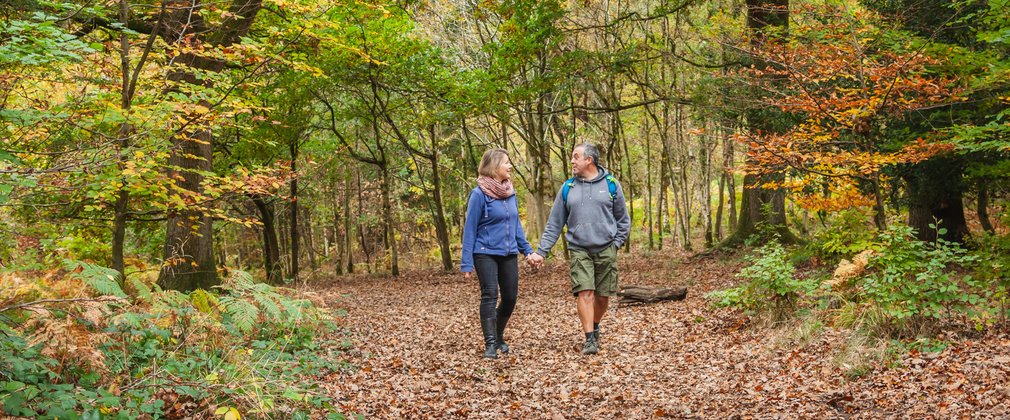
[(592, 180), (575, 178), (575, 184), (569, 188), (567, 203), (562, 191), (558, 191), (536, 253), (547, 256), (565, 225), (568, 225), (565, 238), (573, 249), (597, 253), (610, 245), (621, 247), (627, 241), (631, 219), (624, 202), (624, 190), (615, 181), (617, 194), (611, 200), (606, 180), (609, 173), (603, 167), (596, 168), (600, 174)]

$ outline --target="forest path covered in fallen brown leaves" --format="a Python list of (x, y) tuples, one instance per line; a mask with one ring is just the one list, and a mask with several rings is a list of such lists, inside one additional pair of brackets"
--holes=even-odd
[[(367, 418), (1008, 413), (1000, 401), (1010, 400), (1010, 363), (983, 360), (994, 347), (1010, 353), (1005, 337), (957, 355), (956, 365), (944, 363), (949, 357), (940, 354), (852, 381), (832, 361), (833, 347), (843, 341), (840, 332), (825, 329), (804, 343), (789, 344), (796, 328), (741, 328), (741, 316), (708, 304), (706, 293), (734, 283), (741, 266), (735, 258), (685, 261), (669, 254), (622, 254), (622, 284), (688, 286), (688, 297), (646, 306), (611, 305), (601, 325), (600, 353), (584, 356), (568, 272), (552, 262), (536, 273), (522, 269), (518, 304), (506, 332), (512, 354), (497, 360), (482, 358), (476, 279), (418, 272), (398, 279), (334, 281), (318, 292), (347, 311), (340, 319), (354, 343), (346, 361), (358, 369), (329, 374), (323, 387), (342, 412)], [(976, 369), (984, 374), (966, 370), (960, 360), (965, 357), (983, 363)], [(919, 375), (929, 375), (929, 381), (921, 384)], [(978, 394), (969, 398), (972, 383), (965, 379), (978, 375), (987, 379), (986, 388), (973, 386)]]

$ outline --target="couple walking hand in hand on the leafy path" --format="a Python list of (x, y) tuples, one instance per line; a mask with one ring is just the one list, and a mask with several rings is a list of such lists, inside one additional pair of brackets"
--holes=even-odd
[(572, 294), (586, 333), (582, 353), (600, 350), (600, 320), (617, 294), (617, 249), (628, 238), (631, 220), (620, 184), (599, 162), (600, 150), (593, 144), (579, 144), (572, 151), (574, 177), (558, 192), (534, 252), (519, 221), (507, 151), (490, 149), (481, 159), (478, 186), (467, 203), (461, 271), (467, 279), (476, 272), (481, 285), (484, 357), (509, 352), (504, 332), (519, 290), (518, 254), (539, 268), (566, 225)]

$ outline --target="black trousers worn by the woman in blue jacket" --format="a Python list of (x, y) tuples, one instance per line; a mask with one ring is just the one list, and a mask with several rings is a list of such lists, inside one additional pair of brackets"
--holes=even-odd
[[(519, 255), (474, 254), (474, 271), (481, 282), (481, 319), (508, 318), (519, 294)], [(501, 289), (501, 305), (498, 290)]]

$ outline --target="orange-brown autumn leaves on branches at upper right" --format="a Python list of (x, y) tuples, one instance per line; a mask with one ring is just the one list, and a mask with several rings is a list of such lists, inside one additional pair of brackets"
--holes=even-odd
[(941, 59), (898, 42), (868, 12), (805, 6), (807, 18), (789, 42), (751, 50), (768, 63), (740, 72), (763, 90), (765, 106), (796, 123), (785, 132), (743, 132), (752, 174), (785, 174), (765, 188), (784, 188), (811, 210), (880, 203), (887, 170), (950, 152), (936, 135), (902, 138), (889, 121), (961, 100), (963, 84), (934, 72)]

